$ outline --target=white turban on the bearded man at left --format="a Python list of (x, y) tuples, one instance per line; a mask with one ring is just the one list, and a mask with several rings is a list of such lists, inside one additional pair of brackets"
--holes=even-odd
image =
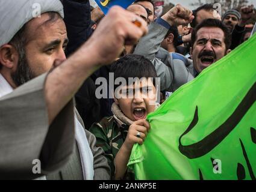
[(9, 43), (25, 23), (49, 11), (64, 17), (60, 0), (0, 0), (0, 47)]

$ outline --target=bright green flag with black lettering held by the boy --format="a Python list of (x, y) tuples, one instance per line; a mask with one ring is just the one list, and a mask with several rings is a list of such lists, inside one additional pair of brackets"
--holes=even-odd
[(154, 113), (130, 166), (136, 179), (255, 179), (256, 35)]

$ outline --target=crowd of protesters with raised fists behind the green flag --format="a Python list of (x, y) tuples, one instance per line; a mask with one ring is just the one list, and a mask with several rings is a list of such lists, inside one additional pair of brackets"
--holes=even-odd
[[(211, 4), (175, 5), (156, 17), (154, 2), (136, 0), (105, 16), (88, 0), (0, 0), (0, 13), (0, 178), (14, 179), (134, 179), (126, 165), (150, 130), (148, 113), (254, 26), (253, 5), (223, 16)], [(111, 73), (142, 79), (139, 89), (111, 89)], [(42, 172), (32, 172), (34, 159)]]

